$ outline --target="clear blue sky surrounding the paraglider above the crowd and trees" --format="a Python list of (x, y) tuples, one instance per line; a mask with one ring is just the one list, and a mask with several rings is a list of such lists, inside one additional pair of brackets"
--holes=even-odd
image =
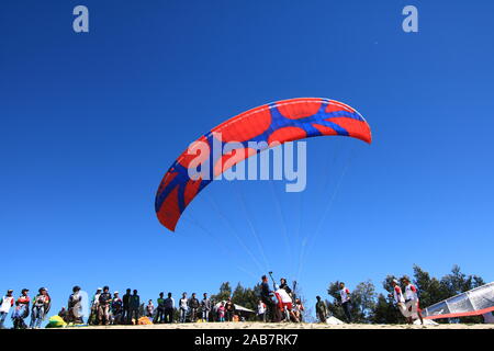
[[(87, 34), (72, 31), (77, 4)], [(406, 4), (416, 34), (402, 31)], [(250, 224), (278, 278), (301, 268), (311, 305), (330, 281), (380, 286), (414, 263), (494, 280), (492, 13), (489, 1), (2, 2), (1, 293), (47, 286), (56, 312), (75, 284), (146, 299), (251, 286), (261, 271), (232, 233), (261, 261)], [(187, 210), (201, 227), (159, 225), (155, 192), (191, 140), (296, 97), (355, 106), (373, 144), (311, 139), (304, 193), (217, 182)]]

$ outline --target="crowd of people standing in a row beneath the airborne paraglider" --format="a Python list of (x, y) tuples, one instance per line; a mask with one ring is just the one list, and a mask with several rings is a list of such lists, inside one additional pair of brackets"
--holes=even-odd
[[(272, 276), (271, 276), (272, 279)], [(394, 302), (408, 322), (413, 322), (413, 317), (418, 316), (423, 322), (420, 308), (418, 306), (418, 294), (416, 287), (408, 279), (403, 279), (405, 293), (402, 292), (400, 282), (394, 280), (393, 296)], [(13, 307), (12, 321), (13, 328), (40, 328), (45, 316), (48, 314), (52, 298), (48, 290), (41, 287), (36, 296), (31, 301), (29, 290), (23, 288), (21, 295), (15, 299), (13, 291), (9, 290), (7, 295), (0, 301), (0, 328), (4, 327), (5, 318)], [(199, 299), (195, 293), (190, 298), (183, 293), (176, 306), (171, 293), (165, 297), (165, 293), (159, 293), (156, 299), (156, 306), (153, 299), (146, 305), (142, 304), (137, 290), (127, 288), (125, 294), (120, 297), (117, 291), (110, 293), (110, 287), (97, 288), (91, 302), (89, 303), (89, 316), (86, 320), (88, 325), (132, 325), (138, 324), (141, 317), (147, 317), (153, 324), (171, 324), (178, 319), (178, 322), (197, 321), (233, 321), (243, 320), (242, 310), (237, 312), (232, 297), (225, 301), (213, 302), (207, 293), (204, 293)], [(272, 322), (301, 322), (303, 312), (305, 310), (301, 298), (295, 296), (294, 291), (289, 286), (285, 279), (281, 279), (277, 284), (272, 281), (272, 288), (267, 275), (262, 275), (260, 285), (260, 296), (257, 305), (257, 318), (260, 321)], [(346, 321), (351, 322), (351, 294), (345, 283), (339, 284), (340, 306), (344, 310)], [(329, 317), (329, 310), (321, 296), (316, 296), (315, 306), (317, 318), (321, 322), (326, 322)], [(31, 304), (32, 303), (32, 304)], [(74, 286), (67, 303), (58, 316), (67, 324), (85, 324), (83, 294), (80, 286)], [(176, 315), (177, 312), (177, 315)], [(25, 320), (31, 314), (29, 326)]]

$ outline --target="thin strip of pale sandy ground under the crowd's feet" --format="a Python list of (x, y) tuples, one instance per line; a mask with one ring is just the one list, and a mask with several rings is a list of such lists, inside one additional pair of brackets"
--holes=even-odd
[(266, 322), (194, 322), (148, 326), (86, 327), (85, 329), (494, 329), (494, 325), (325, 325), (325, 324), (266, 324)]

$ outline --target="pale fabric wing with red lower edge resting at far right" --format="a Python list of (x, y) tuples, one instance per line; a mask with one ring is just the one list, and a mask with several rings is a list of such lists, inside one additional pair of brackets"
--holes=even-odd
[(494, 282), (434, 304), (422, 312), (424, 318), (479, 316), (494, 310)]

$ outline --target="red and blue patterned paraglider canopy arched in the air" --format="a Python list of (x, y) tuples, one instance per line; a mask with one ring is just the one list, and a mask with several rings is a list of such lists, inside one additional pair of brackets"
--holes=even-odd
[[(370, 127), (360, 113), (329, 99), (283, 100), (229, 118), (192, 143), (168, 169), (155, 200), (159, 222), (175, 231), (181, 214), (198, 193), (249, 156), (287, 141), (324, 135), (371, 143)], [(249, 141), (263, 141), (266, 147), (252, 148)], [(213, 150), (214, 145), (223, 147), (226, 143), (237, 143), (238, 147), (225, 155)], [(190, 177), (191, 170), (198, 172)]]

